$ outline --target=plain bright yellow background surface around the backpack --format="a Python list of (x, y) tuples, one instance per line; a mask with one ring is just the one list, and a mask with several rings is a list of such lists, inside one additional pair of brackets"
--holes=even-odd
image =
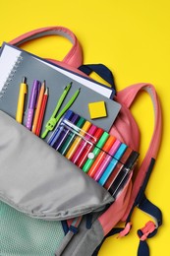
[[(152, 256), (170, 255), (169, 13), (169, 0), (6, 0), (1, 1), (0, 11), (0, 43), (37, 28), (64, 26), (78, 36), (84, 49), (84, 63), (104, 63), (113, 71), (117, 90), (139, 82), (155, 86), (162, 104), (163, 136), (146, 195), (162, 210), (163, 225), (148, 240)], [(35, 54), (59, 60), (70, 47), (70, 42), (60, 36), (25, 45), (25, 49)], [(149, 97), (139, 96), (132, 111), (142, 130), (142, 161), (153, 129)], [(99, 256), (137, 255), (137, 229), (148, 220), (136, 210), (131, 233), (122, 239), (108, 238)]]

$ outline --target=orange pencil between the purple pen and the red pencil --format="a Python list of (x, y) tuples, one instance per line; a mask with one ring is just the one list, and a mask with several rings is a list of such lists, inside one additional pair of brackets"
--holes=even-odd
[(45, 81), (43, 82), (42, 86), (40, 87), (39, 96), (37, 98), (37, 106), (36, 106), (36, 110), (35, 110), (35, 114), (34, 114), (34, 118), (33, 118), (33, 124), (32, 124), (32, 128), (31, 128), (32, 133), (35, 133), (35, 130), (36, 130), (44, 91), (45, 91)]

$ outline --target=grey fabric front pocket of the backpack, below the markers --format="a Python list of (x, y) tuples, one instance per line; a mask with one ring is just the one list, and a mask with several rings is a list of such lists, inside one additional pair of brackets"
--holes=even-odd
[(98, 211), (110, 194), (0, 111), (0, 199), (31, 217), (66, 220)]

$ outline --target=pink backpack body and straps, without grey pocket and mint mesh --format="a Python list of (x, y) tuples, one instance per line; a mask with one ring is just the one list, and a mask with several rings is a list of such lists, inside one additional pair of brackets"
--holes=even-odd
[[(110, 82), (112, 86), (114, 85), (113, 76), (105, 66), (82, 66), (83, 54), (80, 43), (75, 34), (66, 28), (49, 27), (27, 32), (10, 41), (10, 43), (19, 46), (28, 40), (50, 34), (63, 35), (73, 43), (71, 50), (63, 61), (50, 59), (51, 62), (85, 77), (87, 77), (91, 70), (94, 70), (103, 79)], [(149, 148), (142, 160), (141, 166), (135, 167), (135, 175), (133, 172), (131, 173), (122, 192), (111, 205), (107, 205), (107, 207), (104, 210), (102, 209), (99, 213), (89, 213), (85, 215), (84, 218), (80, 217), (74, 220), (67, 220), (69, 227), (64, 227), (65, 236), (61, 244), (56, 248), (55, 255), (97, 255), (105, 238), (117, 232), (119, 232), (119, 237), (123, 237), (129, 233), (132, 227), (131, 216), (136, 206), (153, 219), (138, 231), (140, 237), (138, 255), (149, 255), (146, 238), (152, 237), (162, 224), (160, 210), (149, 202), (144, 194), (161, 142), (161, 107), (158, 96), (152, 85), (146, 83), (136, 84), (117, 93), (114, 99), (121, 103), (122, 108), (110, 129), (110, 134), (127, 144), (133, 150), (139, 151), (141, 139), (140, 130), (131, 113), (130, 107), (142, 91), (147, 92), (152, 99), (155, 121)], [(119, 222), (124, 222), (125, 228), (114, 228)], [(53, 255), (52, 252), (49, 255)]]

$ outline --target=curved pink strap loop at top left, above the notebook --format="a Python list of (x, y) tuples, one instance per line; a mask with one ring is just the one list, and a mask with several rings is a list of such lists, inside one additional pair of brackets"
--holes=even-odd
[(28, 42), (30, 40), (47, 36), (47, 35), (62, 35), (68, 38), (73, 46), (68, 52), (68, 54), (63, 59), (64, 63), (71, 65), (72, 67), (80, 67), (83, 63), (83, 53), (81, 45), (76, 37), (76, 35), (64, 27), (47, 27), (42, 29), (37, 29), (31, 32), (26, 32), (15, 39), (11, 40), (9, 43), (20, 46), (21, 44)]

